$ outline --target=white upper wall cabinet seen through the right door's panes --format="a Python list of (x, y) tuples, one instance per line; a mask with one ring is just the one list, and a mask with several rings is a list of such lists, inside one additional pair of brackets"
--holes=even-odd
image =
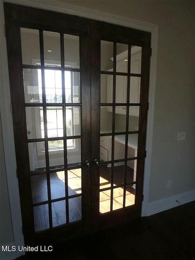
[[(127, 72), (127, 51), (116, 56), (116, 71)], [(112, 58), (113, 59), (113, 58)], [(111, 70), (109, 70), (111, 71)], [(131, 73), (141, 73), (141, 47), (133, 46), (131, 48)], [(107, 76), (107, 103), (112, 103), (113, 97), (113, 76)], [(127, 97), (127, 77), (116, 76), (116, 103), (126, 103)], [(130, 103), (140, 102), (140, 77), (131, 77), (130, 82)], [(112, 108), (108, 107), (107, 111), (111, 112)], [(115, 113), (126, 114), (126, 106), (116, 107)], [(131, 107), (129, 111), (131, 116), (139, 116), (139, 107)]]

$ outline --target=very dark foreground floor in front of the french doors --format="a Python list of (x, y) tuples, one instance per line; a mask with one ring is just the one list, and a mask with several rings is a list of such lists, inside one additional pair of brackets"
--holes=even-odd
[(19, 259), (193, 260), (194, 219), (195, 201)]

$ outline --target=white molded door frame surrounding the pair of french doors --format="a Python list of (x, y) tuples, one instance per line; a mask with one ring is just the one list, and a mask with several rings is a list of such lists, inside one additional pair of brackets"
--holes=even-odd
[[(19, 187), (16, 177), (16, 156), (13, 137), (13, 125), (12, 114), (10, 108), (10, 89), (9, 89), (9, 71), (7, 62), (7, 48), (6, 38), (4, 31), (4, 9), (3, 3), (10, 2), (19, 5), (24, 5), (23, 0), (3, 0), (1, 4), (1, 102), (0, 112), (2, 121), (2, 133), (3, 133), (3, 146), (5, 154), (5, 168), (8, 184), (8, 193), (10, 200), (10, 210), (12, 217), (13, 227), (13, 242), (15, 245), (24, 245), (22, 234), (22, 219), (19, 201)], [(108, 23), (118, 24), (126, 27), (135, 28), (138, 30), (145, 30), (151, 32), (151, 48), (152, 56), (150, 63), (150, 84), (149, 84), (149, 103), (150, 109), (148, 111), (147, 120), (147, 139), (146, 139), (146, 151), (147, 157), (145, 159), (144, 169), (144, 201), (142, 203), (142, 216), (148, 214), (148, 194), (149, 194), (149, 180), (150, 180), (150, 168), (151, 168), (151, 150), (152, 150), (152, 137), (153, 137), (153, 121), (154, 121), (154, 98), (155, 98), (155, 83), (156, 83), (156, 64), (157, 64), (157, 45), (158, 45), (158, 26), (141, 22), (122, 16), (113, 15), (106, 12), (100, 12), (97, 10), (84, 8), (77, 5), (71, 5), (63, 2), (53, 2), (52, 0), (28, 0), (25, 5), (35, 8), (42, 8), (52, 10), (56, 12), (62, 12), (66, 14), (72, 14), (94, 20), (105, 21)], [(12, 258), (19, 257), (24, 254), (23, 252), (12, 252)]]

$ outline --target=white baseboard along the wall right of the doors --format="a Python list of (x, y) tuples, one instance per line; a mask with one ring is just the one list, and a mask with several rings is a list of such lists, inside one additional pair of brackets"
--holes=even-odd
[[(180, 204), (176, 202), (176, 200), (179, 201)], [(156, 214), (161, 211), (165, 211), (170, 208), (175, 208), (179, 205), (183, 205), (194, 200), (195, 190), (192, 190), (165, 199), (161, 199), (159, 201), (150, 202), (148, 203), (147, 216)]]

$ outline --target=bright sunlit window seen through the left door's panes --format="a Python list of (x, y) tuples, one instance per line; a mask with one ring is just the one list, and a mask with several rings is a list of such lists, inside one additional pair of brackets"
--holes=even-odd
[[(53, 64), (47, 64), (52, 66)], [(56, 65), (55, 65), (56, 66)], [(45, 94), (47, 103), (62, 103), (62, 75), (60, 70), (45, 69)], [(41, 69), (37, 69), (39, 100), (42, 101), (42, 79)], [(65, 71), (65, 97), (66, 103), (72, 103), (73, 100), (73, 73)], [(47, 107), (47, 128), (48, 137), (63, 137), (62, 106)], [(44, 138), (44, 120), (43, 109), (39, 109), (39, 129), (40, 136)], [(66, 135), (73, 136), (73, 108), (66, 106)], [(62, 149), (63, 142), (56, 140), (49, 142), (49, 149)], [(67, 140), (67, 148), (74, 148), (74, 140)], [(44, 150), (41, 147), (41, 150)]]

